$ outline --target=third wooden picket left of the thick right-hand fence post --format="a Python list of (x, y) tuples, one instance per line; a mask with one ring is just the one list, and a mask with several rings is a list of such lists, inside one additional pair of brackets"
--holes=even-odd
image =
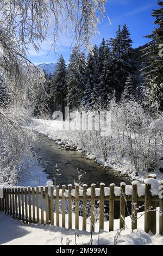
[(110, 184), (109, 231), (114, 231), (114, 186), (115, 186), (115, 184)]

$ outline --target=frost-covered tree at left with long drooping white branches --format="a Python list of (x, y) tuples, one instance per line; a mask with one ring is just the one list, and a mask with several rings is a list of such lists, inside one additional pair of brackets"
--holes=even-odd
[(90, 39), (98, 30), (100, 17), (104, 16), (105, 2), (0, 2), (0, 70), (8, 94), (7, 105), (0, 106), (0, 182), (16, 183), (24, 161), (32, 157), (30, 142), (33, 139), (30, 131), (23, 127), (33, 114), (37, 99), (46, 96), (43, 72), (27, 59), (29, 47), (32, 45), (39, 52), (40, 42), (47, 40), (49, 34), (53, 35), (55, 47), (60, 33), (71, 29), (72, 41), (84, 44), (89, 50)]

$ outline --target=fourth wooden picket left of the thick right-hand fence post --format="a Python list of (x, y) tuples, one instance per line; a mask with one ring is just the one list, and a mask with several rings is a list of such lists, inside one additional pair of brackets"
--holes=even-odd
[(99, 231), (104, 229), (104, 197), (105, 197), (105, 184), (100, 184), (100, 197), (99, 197)]

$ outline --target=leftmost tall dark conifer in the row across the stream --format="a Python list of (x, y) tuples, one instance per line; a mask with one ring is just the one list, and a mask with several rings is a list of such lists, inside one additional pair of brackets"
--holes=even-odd
[(65, 106), (66, 106), (66, 83), (67, 68), (64, 57), (61, 55), (58, 62), (57, 68), (54, 71), (54, 77), (51, 83), (51, 95), (52, 104), (57, 102), (61, 105), (61, 111), (63, 116), (65, 116)]

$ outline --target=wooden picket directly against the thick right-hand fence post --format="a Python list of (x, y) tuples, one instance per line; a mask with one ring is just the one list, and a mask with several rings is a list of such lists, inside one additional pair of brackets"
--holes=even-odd
[(151, 230), (151, 184), (145, 184), (145, 232)]

